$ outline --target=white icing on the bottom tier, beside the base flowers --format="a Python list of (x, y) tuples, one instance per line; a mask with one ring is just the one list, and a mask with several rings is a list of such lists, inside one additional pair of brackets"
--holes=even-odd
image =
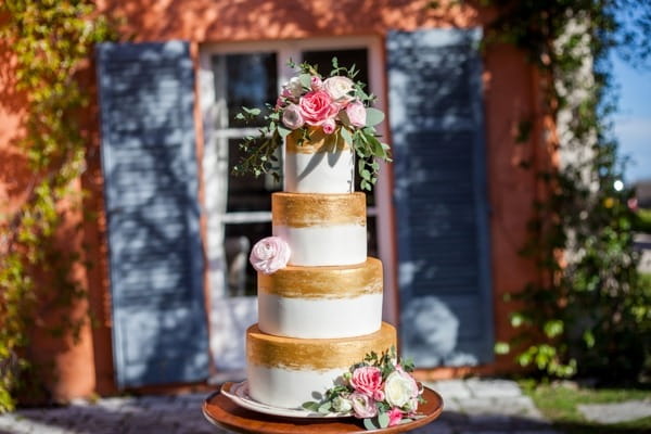
[(248, 363), (248, 392), (252, 398), (260, 403), (275, 407), (299, 408), (308, 400), (319, 400), (315, 399), (312, 394), (323, 394), (347, 369), (348, 367), (323, 371), (289, 370)]

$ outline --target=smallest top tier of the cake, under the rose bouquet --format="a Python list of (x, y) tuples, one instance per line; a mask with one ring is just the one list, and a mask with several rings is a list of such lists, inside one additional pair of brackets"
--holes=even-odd
[(310, 132), (309, 142), (298, 144), (296, 133), (286, 138), (284, 186), (289, 193), (352, 193), (355, 161), (349, 143), (340, 135)]

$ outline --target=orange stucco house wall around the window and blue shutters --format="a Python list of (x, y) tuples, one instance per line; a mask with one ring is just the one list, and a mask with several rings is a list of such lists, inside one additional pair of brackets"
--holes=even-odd
[[(335, 36), (385, 37), (390, 29), (413, 30), (432, 27), (474, 27), (486, 23), (492, 12), (472, 7), (427, 9), (430, 1), (404, 0), (102, 0), (100, 9), (122, 18), (122, 35), (135, 41), (186, 39), (196, 56), (202, 43), (264, 41)], [(2, 47), (0, 46), (0, 51)], [(1, 52), (0, 52), (1, 54)], [(7, 73), (0, 75), (5, 89)], [(514, 141), (515, 127), (537, 113), (536, 76), (524, 55), (508, 46), (488, 48), (484, 54), (485, 115), (487, 138), (488, 192), (492, 208), (490, 242), (496, 340), (509, 335), (509, 306), (502, 294), (522, 289), (536, 279), (532, 264), (518, 255), (526, 238), (532, 217), (532, 201), (537, 194), (533, 170), (520, 167), (524, 161), (540, 163), (541, 133), (528, 143)], [(10, 85), (9, 85), (10, 86)], [(92, 92), (94, 88), (89, 81)], [(386, 95), (385, 95), (386, 98)], [(95, 100), (97, 101), (97, 100)], [(20, 173), (21, 159), (12, 140), (21, 135), (24, 102), (20, 97), (0, 98), (0, 209), (14, 209), (23, 197), (26, 174)], [(106, 264), (106, 237), (103, 220), (103, 184), (99, 161), (97, 106), (88, 113), (91, 128), (88, 170), (81, 184), (90, 194), (85, 208), (95, 218), (84, 224), (82, 241), (94, 266), (86, 270), (90, 309), (98, 327), (85, 331), (86, 347), (68, 348), (69, 359), (91, 366), (79, 379), (61, 376), (67, 385), (55, 388), (60, 396), (72, 397), (97, 391), (115, 391), (111, 348), (111, 317)], [(202, 155), (201, 117), (196, 116), (197, 151)], [(546, 158), (542, 154), (542, 158)], [(546, 163), (545, 163), (546, 164)], [(16, 171), (18, 170), (18, 171)], [(79, 216), (71, 216), (75, 221)], [(68, 360), (68, 359), (66, 359)], [(496, 363), (474, 369), (437, 369), (423, 376), (449, 376), (472, 372), (492, 373), (511, 369), (505, 357)], [(67, 362), (67, 361), (66, 361)], [(73, 385), (71, 385), (73, 384)]]

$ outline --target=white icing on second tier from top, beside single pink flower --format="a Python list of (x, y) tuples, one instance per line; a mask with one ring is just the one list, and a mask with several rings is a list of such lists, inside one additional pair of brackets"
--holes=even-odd
[(290, 245), (290, 265), (355, 265), (367, 259), (367, 228), (360, 225), (306, 228), (273, 226), (273, 235)]

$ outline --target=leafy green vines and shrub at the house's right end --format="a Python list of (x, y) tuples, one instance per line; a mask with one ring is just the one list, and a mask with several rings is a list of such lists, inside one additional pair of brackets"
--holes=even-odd
[(522, 254), (540, 279), (509, 297), (522, 306), (511, 318), (516, 335), (496, 350), (547, 375), (635, 380), (651, 355), (651, 290), (636, 269), (631, 192), (613, 188), (623, 167), (608, 120), (616, 107), (608, 54), (637, 41), (637, 59), (649, 59), (648, 38), (636, 39), (617, 12), (630, 8), (648, 28), (651, 8), (635, 0), (489, 3), (499, 15), (488, 39), (520, 47), (541, 69), (546, 112), (557, 120), (572, 113), (560, 152), (577, 156), (536, 174), (547, 195), (534, 204)]

